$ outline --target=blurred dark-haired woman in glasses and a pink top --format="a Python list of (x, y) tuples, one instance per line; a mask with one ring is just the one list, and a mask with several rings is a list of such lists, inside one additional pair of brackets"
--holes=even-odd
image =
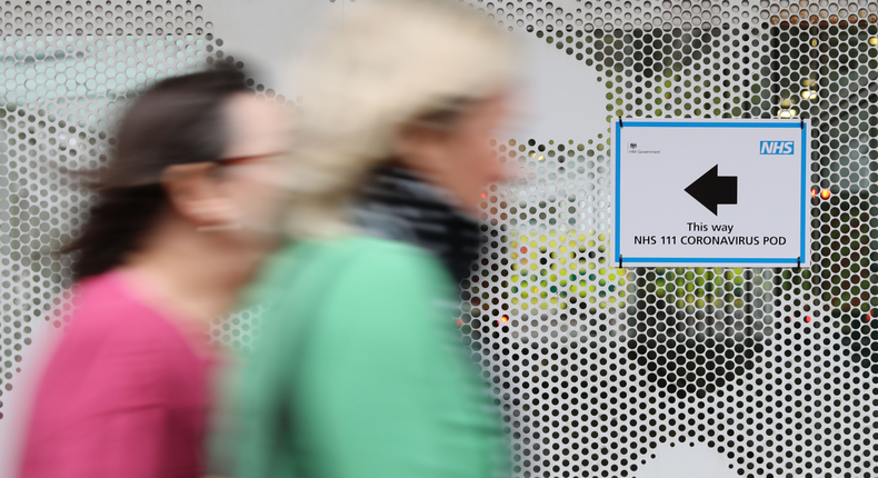
[(279, 109), (232, 67), (166, 79), (126, 114), (68, 247), (80, 301), (46, 370), (21, 477), (197, 477), (209, 321), (276, 239)]

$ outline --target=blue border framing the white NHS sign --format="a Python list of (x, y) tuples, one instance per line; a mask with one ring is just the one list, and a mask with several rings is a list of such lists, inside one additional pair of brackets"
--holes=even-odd
[[(664, 262), (664, 263), (765, 263), (765, 265), (798, 265), (799, 262), (804, 261), (805, 258), (805, 229), (806, 229), (806, 210), (808, 195), (807, 191), (807, 165), (808, 165), (808, 129), (805, 128), (802, 121), (794, 122), (794, 121), (766, 121), (766, 122), (741, 122), (741, 121), (649, 121), (649, 120), (628, 120), (625, 121), (622, 118), (622, 122), (616, 120), (616, 161), (613, 166), (616, 167), (616, 240), (615, 240), (615, 257), (616, 263), (619, 263), (619, 259), (625, 259), (625, 261), (631, 262), (639, 262), (639, 263), (650, 263), (650, 262)], [(621, 136), (622, 136), (622, 127), (625, 128), (637, 128), (637, 127), (649, 127), (649, 128), (800, 128), (801, 129), (801, 211), (799, 218), (799, 227), (801, 237), (799, 239), (799, 257), (797, 258), (661, 258), (661, 257), (625, 257), (622, 258), (619, 255), (619, 242), (620, 236), (619, 230), (621, 223), (619, 221), (621, 209), (619, 207), (619, 198), (621, 197)]]

